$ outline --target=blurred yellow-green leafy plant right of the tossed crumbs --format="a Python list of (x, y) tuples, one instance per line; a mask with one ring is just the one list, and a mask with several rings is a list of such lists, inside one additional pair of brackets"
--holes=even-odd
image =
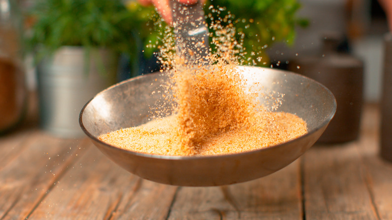
[[(212, 0), (207, 3), (206, 14), (211, 13), (210, 5), (222, 9), (219, 14), (212, 13), (214, 20), (231, 14), (237, 32), (244, 33), (245, 59), (251, 58), (260, 66), (269, 65), (264, 52), (267, 47), (282, 41), (291, 45), (295, 40), (295, 27), (305, 27), (308, 23), (306, 19), (296, 17), (301, 7), (297, 0)], [(211, 20), (207, 22), (211, 23)], [(237, 40), (240, 38), (238, 35)]]

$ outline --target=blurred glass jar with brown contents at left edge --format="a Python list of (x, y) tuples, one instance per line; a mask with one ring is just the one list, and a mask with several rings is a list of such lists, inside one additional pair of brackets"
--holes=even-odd
[(21, 24), (17, 1), (0, 0), (0, 133), (14, 128), (26, 109)]

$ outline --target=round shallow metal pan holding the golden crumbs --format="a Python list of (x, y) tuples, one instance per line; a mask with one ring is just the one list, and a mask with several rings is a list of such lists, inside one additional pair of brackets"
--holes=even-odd
[[(115, 163), (151, 181), (181, 186), (217, 186), (253, 180), (271, 174), (305, 153), (321, 136), (336, 111), (333, 94), (322, 84), (302, 75), (260, 67), (239, 67), (252, 89), (284, 93), (280, 112), (307, 122), (308, 133), (264, 149), (219, 156), (159, 156), (123, 150), (97, 137), (148, 122), (148, 112), (161, 97), (167, 76), (152, 73), (123, 81), (98, 93), (80, 112), (84, 133)], [(252, 86), (250, 86), (252, 87)], [(167, 106), (168, 107), (168, 106)]]

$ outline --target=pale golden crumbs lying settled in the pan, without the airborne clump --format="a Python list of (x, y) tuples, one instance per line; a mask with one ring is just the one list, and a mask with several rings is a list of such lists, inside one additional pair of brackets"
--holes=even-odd
[(179, 148), (176, 116), (118, 130), (99, 137), (125, 150), (158, 155), (219, 155), (277, 145), (307, 133), (306, 123), (288, 113), (263, 113), (249, 127), (238, 128), (206, 138), (202, 147), (190, 154)]

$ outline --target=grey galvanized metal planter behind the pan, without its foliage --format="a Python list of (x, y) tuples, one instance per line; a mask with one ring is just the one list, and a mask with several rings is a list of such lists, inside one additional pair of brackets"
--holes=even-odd
[(83, 135), (80, 109), (97, 92), (116, 82), (118, 55), (107, 49), (62, 47), (37, 68), (40, 125), (63, 138)]

